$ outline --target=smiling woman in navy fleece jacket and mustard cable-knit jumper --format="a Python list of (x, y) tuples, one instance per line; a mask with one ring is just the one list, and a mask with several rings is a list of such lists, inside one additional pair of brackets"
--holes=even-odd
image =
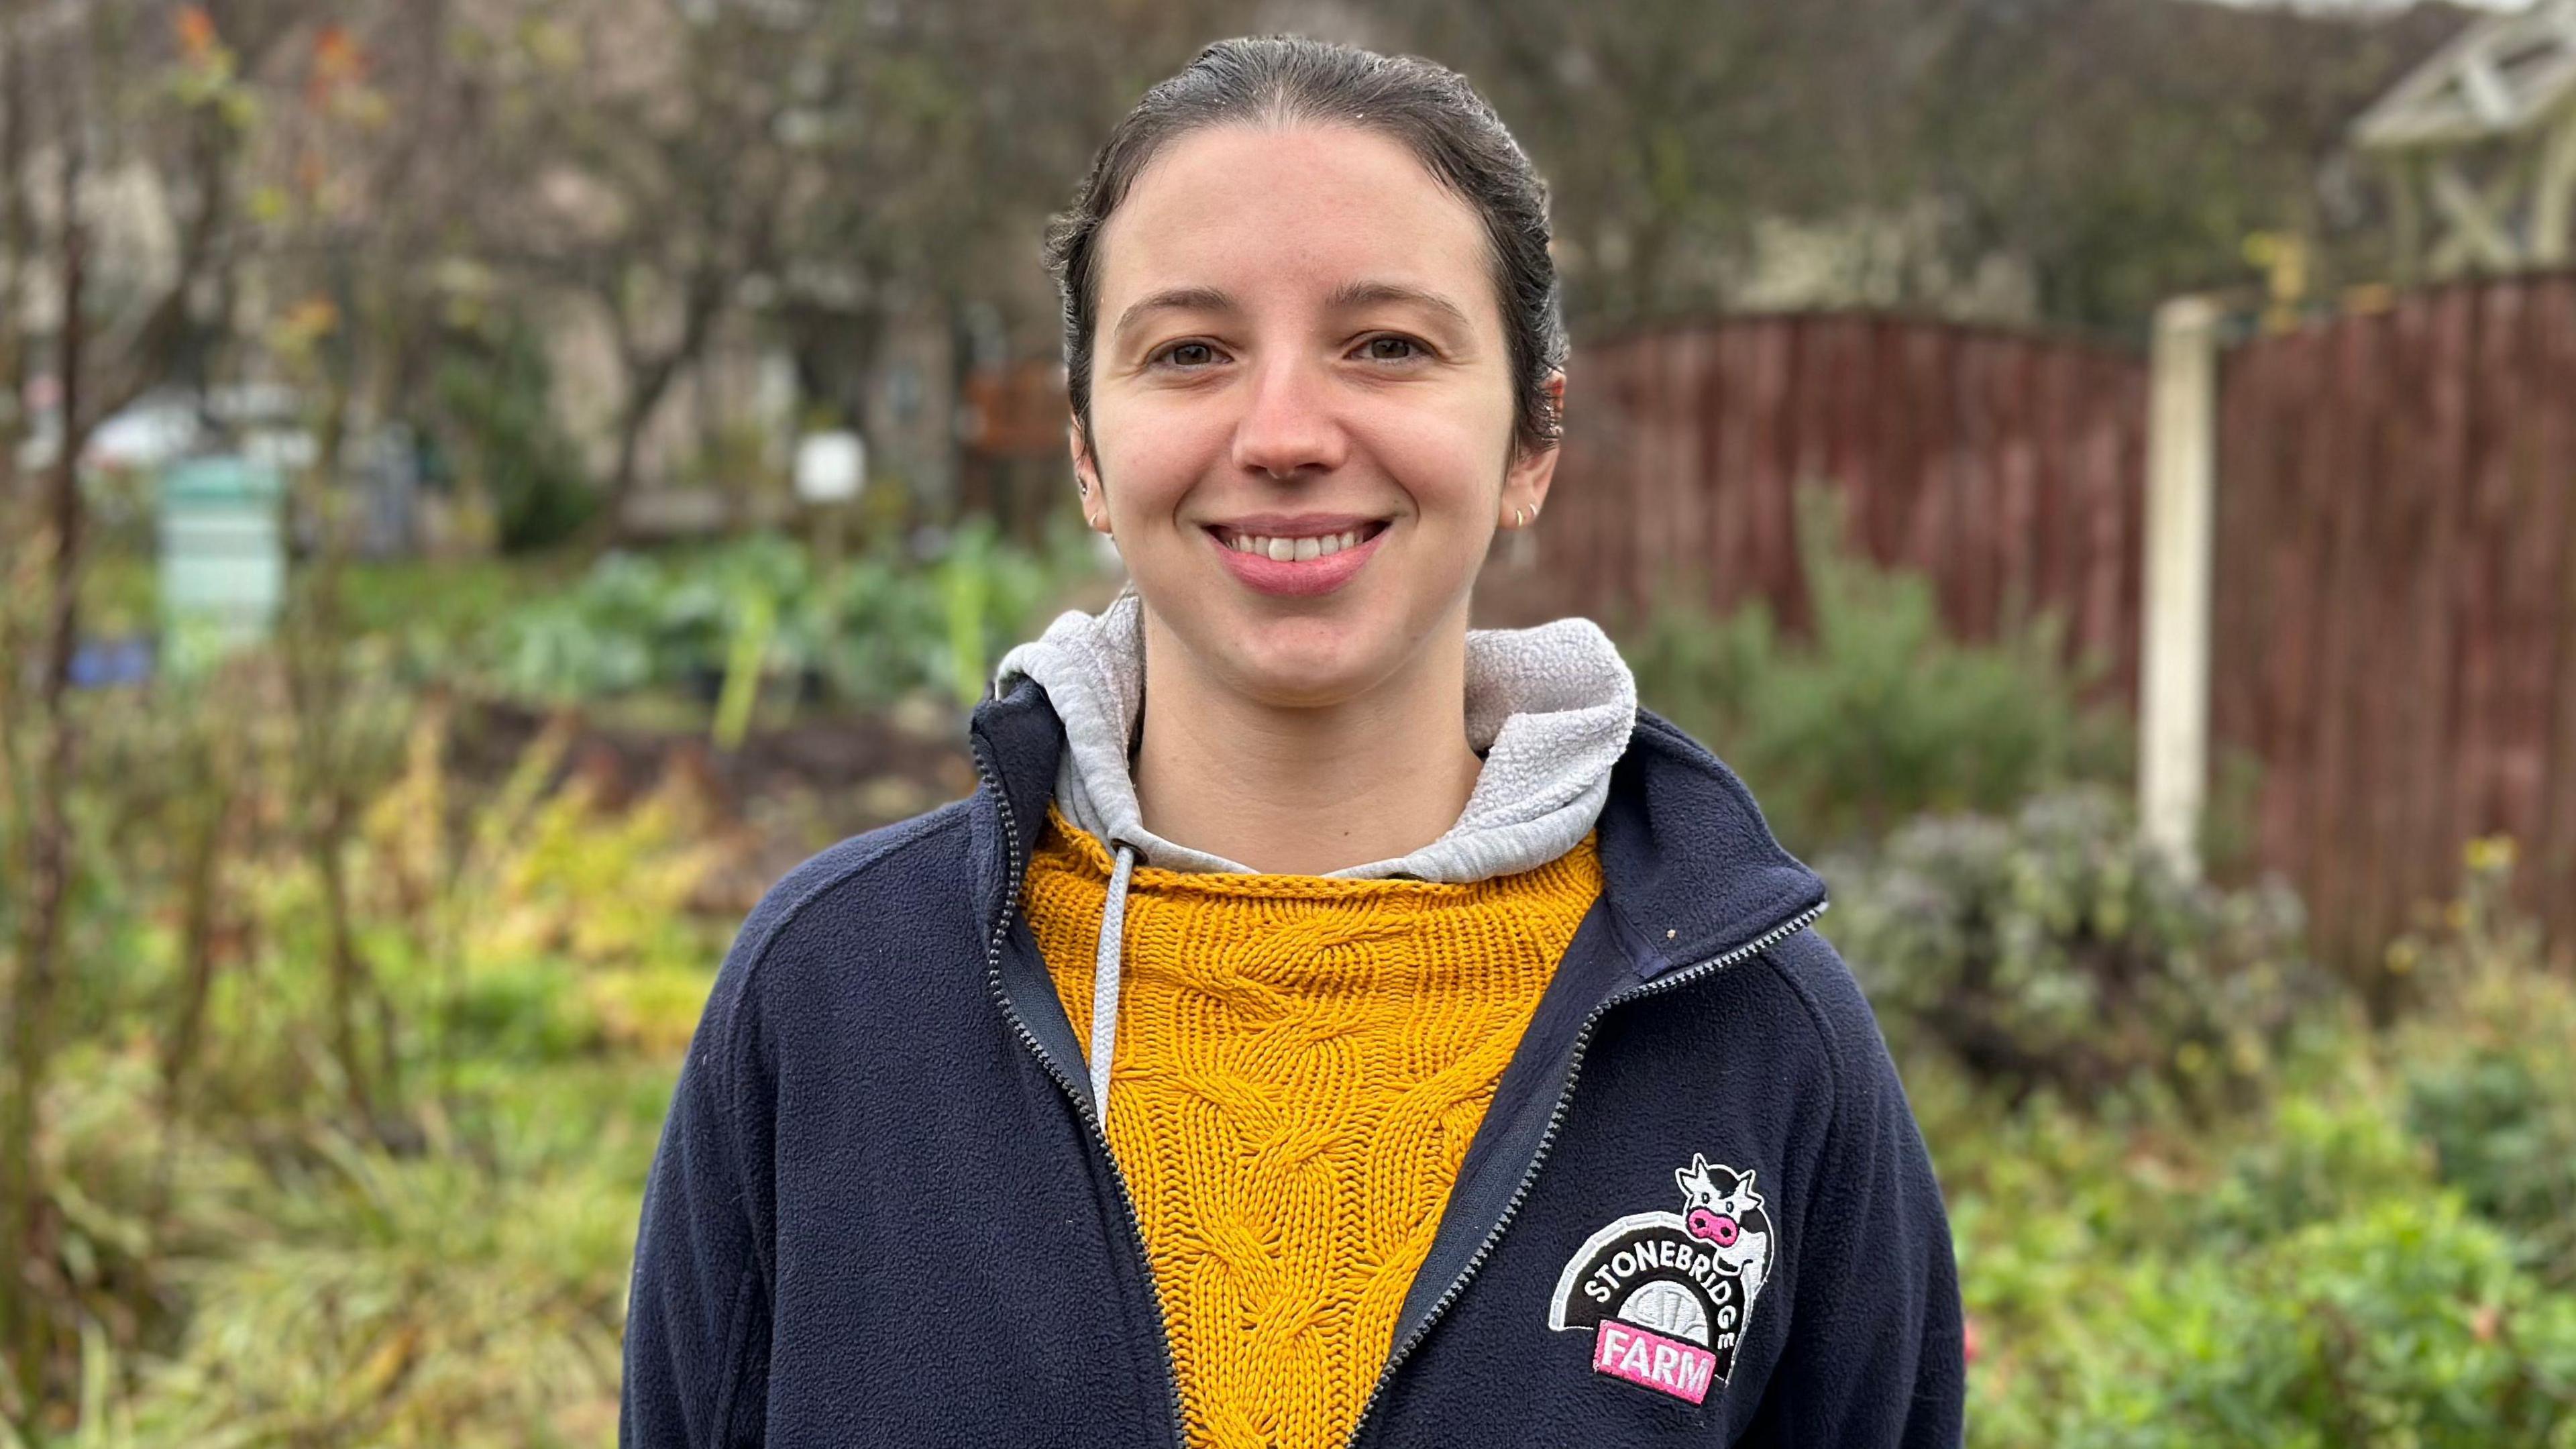
[(1546, 191), (1419, 59), (1208, 46), (1051, 235), (1131, 588), (971, 799), (752, 913), (626, 1444), (1950, 1444), (1950, 1235), (1824, 884), (1582, 619)]

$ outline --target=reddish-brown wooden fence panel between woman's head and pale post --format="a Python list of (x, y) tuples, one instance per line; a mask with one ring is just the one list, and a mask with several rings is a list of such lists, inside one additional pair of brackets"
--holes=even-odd
[(1991, 637), (2053, 611), (2136, 696), (2146, 369), (2110, 348), (1873, 315), (1741, 317), (1579, 345), (1535, 570), (1502, 614), (1643, 611), (1667, 570), (1803, 627), (1795, 490)]

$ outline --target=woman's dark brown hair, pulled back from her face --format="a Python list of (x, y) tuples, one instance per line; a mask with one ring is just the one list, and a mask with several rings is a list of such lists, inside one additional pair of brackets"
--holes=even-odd
[(1072, 209), (1046, 229), (1046, 266), (1064, 291), (1064, 387), (1084, 446), (1092, 433), (1100, 227), (1175, 137), (1221, 124), (1296, 121), (1378, 131), (1476, 209), (1510, 340), (1515, 433), (1522, 449), (1553, 446), (1558, 415), (1546, 382), (1566, 364), (1566, 325), (1556, 260), (1548, 258), (1548, 183), (1502, 116), (1455, 70), (1303, 36), (1244, 36), (1198, 52), (1188, 70), (1146, 90), (1118, 121)]

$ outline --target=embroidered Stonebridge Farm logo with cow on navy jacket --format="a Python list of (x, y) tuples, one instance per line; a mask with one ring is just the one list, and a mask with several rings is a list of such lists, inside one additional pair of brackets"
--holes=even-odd
[(1772, 1222), (1752, 1168), (1692, 1152), (1682, 1212), (1631, 1212), (1566, 1258), (1548, 1328), (1592, 1336), (1592, 1372), (1685, 1403), (1726, 1387), (1770, 1279)]

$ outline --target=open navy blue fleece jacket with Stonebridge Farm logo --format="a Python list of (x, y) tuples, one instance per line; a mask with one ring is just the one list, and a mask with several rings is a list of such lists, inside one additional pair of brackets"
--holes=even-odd
[[(1064, 727), (742, 926), (636, 1240), (626, 1446), (1175, 1444), (1123, 1178), (1018, 910)], [(1824, 882), (1638, 712), (1605, 892), (1504, 1070), (1355, 1444), (1960, 1441), (1940, 1189)]]

